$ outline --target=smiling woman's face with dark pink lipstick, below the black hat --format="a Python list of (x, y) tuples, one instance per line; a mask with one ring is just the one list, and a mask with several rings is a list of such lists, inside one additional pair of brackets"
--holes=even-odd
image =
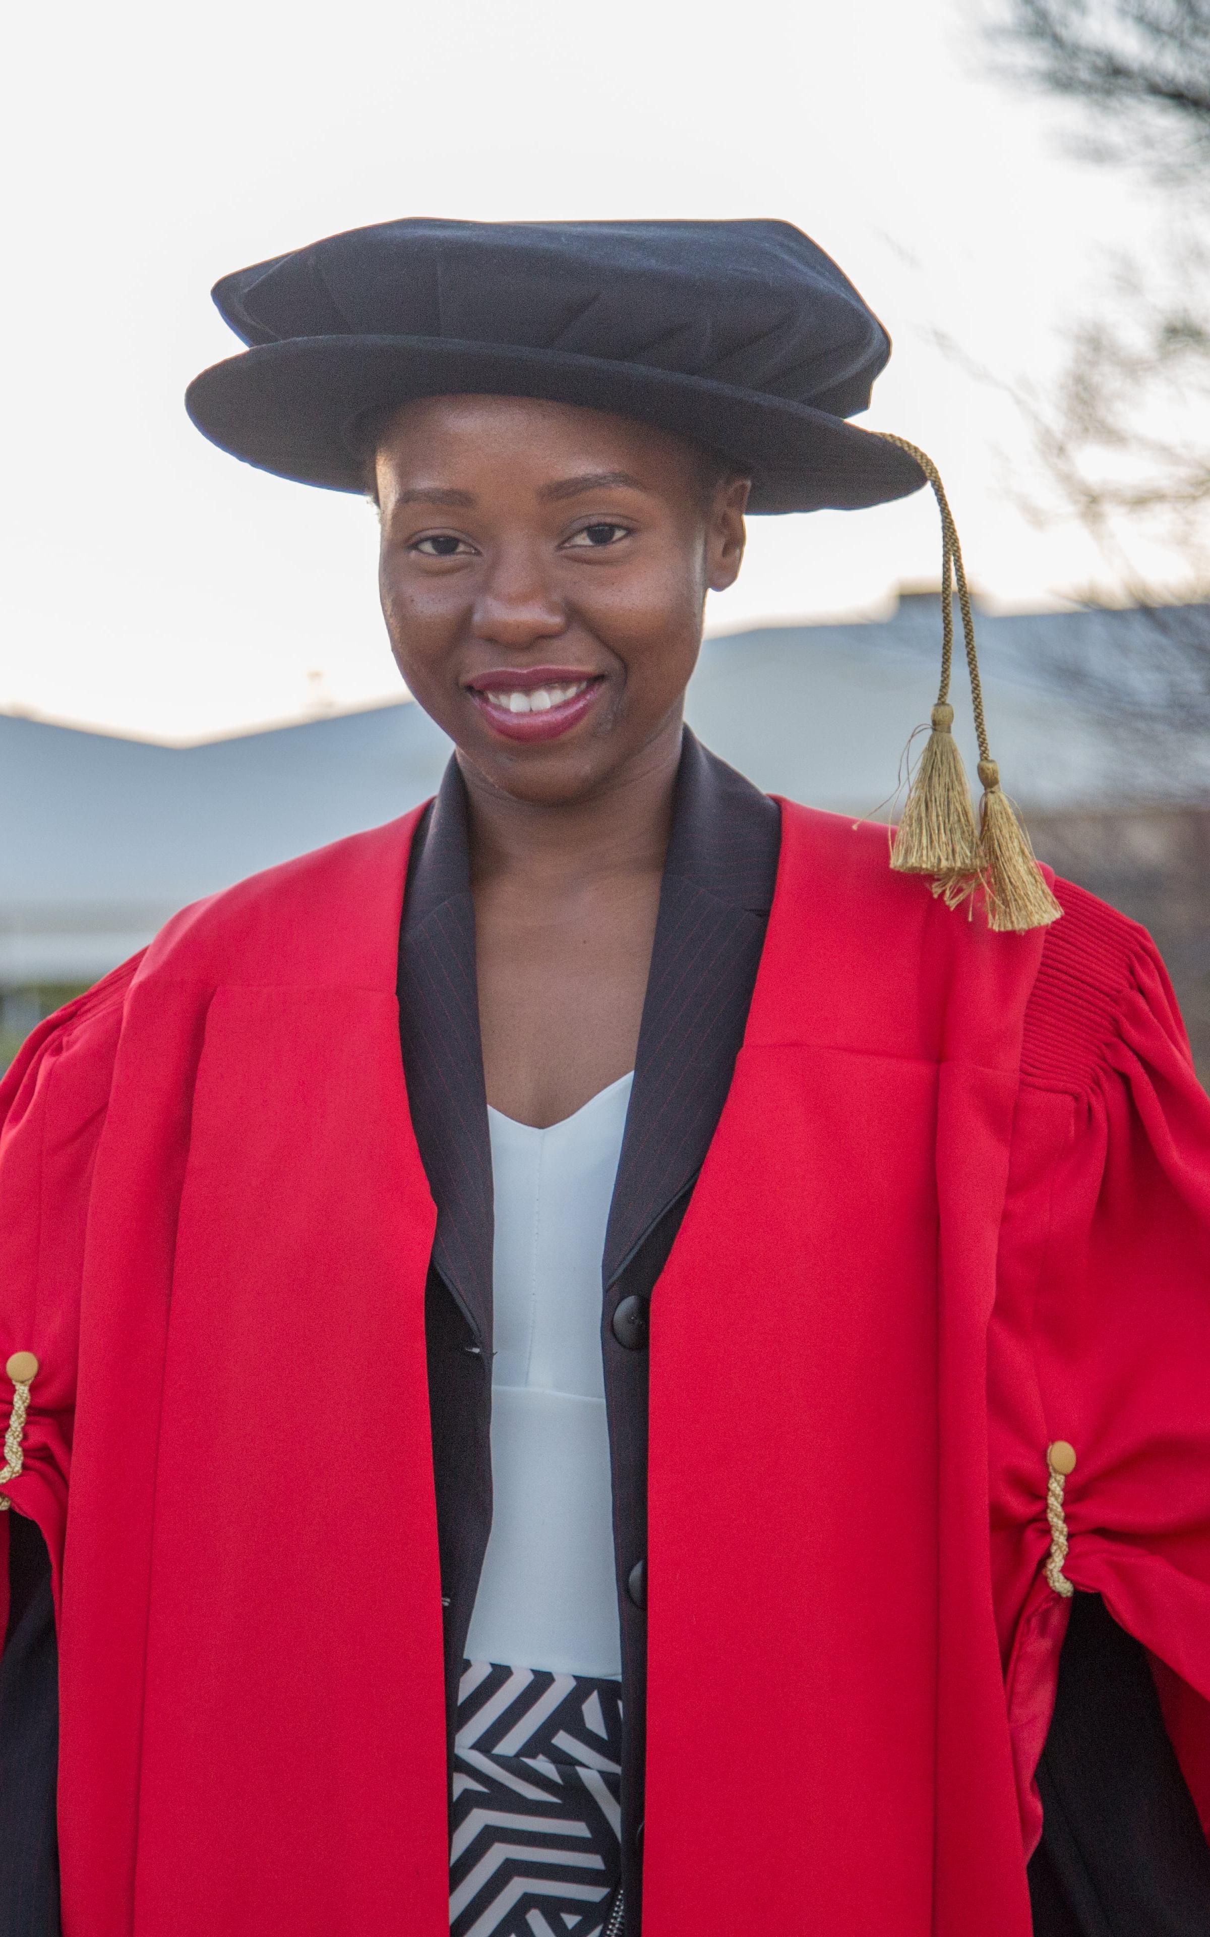
[(378, 446), (395, 662), (484, 781), (558, 804), (676, 746), (747, 482), (631, 418), (523, 397), (405, 405)]

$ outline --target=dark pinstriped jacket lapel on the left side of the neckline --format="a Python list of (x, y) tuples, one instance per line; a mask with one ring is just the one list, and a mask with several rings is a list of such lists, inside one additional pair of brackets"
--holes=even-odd
[(399, 928), (399, 1036), (412, 1129), (438, 1205), (434, 1265), (492, 1342), (492, 1145), (478, 1036), (467, 788), (457, 759), (416, 829)]

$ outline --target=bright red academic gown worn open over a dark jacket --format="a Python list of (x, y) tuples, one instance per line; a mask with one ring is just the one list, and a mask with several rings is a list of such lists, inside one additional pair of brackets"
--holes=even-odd
[[(1053, 1439), (1210, 1819), (1210, 1102), (1131, 922), (995, 936), (782, 823), (652, 1302), (645, 1931), (1028, 1937)], [(186, 910), (4, 1083), (66, 1937), (447, 1929), (414, 825)]]

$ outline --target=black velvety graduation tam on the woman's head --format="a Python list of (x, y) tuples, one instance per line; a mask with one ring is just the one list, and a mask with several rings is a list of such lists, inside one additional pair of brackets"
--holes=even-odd
[(358, 420), (410, 397), (589, 405), (751, 473), (753, 511), (856, 509), (923, 484), (846, 418), (891, 339), (790, 223), (451, 223), (350, 229), (215, 285), (248, 351), (186, 407), (234, 457), (362, 490)]

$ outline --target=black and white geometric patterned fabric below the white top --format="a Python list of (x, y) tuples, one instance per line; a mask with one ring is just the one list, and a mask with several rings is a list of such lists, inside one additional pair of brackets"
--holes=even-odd
[(453, 1937), (604, 1937), (621, 1871), (621, 1683), (467, 1662)]

